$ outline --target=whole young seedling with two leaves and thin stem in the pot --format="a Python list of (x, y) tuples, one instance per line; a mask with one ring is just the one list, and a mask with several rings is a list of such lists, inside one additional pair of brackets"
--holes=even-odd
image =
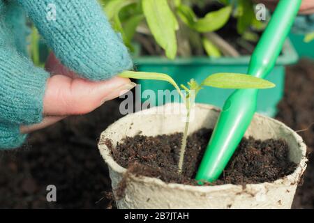
[(214, 75), (209, 75), (204, 79), (200, 84), (197, 83), (194, 79), (191, 79), (187, 83), (187, 86), (181, 84), (181, 88), (178, 86), (172, 77), (156, 73), (156, 72), (134, 72), (134, 71), (125, 71), (122, 72), (120, 77), (128, 77), (133, 79), (153, 79), (169, 82), (174, 86), (181, 96), (181, 99), (186, 106), (186, 125), (184, 128), (184, 136), (181, 142), (180, 156), (178, 171), (181, 174), (183, 163), (184, 163), (184, 153), (186, 150), (186, 141), (188, 139), (188, 127), (190, 124), (190, 110), (194, 105), (195, 98), (197, 93), (199, 93), (205, 86), (216, 87), (220, 89), (269, 89), (273, 88), (275, 84), (253, 77), (251, 75), (236, 74), (236, 73), (216, 73)]

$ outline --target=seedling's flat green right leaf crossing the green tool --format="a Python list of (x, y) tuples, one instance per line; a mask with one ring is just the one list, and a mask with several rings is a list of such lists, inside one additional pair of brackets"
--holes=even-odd
[(220, 89), (270, 89), (276, 86), (265, 79), (236, 73), (216, 73), (210, 75), (204, 79), (201, 85)]

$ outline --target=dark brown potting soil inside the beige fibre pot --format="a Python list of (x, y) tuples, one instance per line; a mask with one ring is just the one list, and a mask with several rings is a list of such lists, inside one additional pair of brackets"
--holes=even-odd
[[(156, 137), (136, 135), (127, 137), (112, 149), (112, 155), (122, 167), (138, 176), (159, 178), (167, 183), (197, 185), (195, 174), (204, 155), (211, 130), (201, 129), (188, 137), (184, 167), (178, 174), (179, 149), (182, 133)], [(292, 174), (297, 164), (288, 159), (285, 141), (242, 139), (236, 153), (215, 185), (232, 183), (272, 182)]]

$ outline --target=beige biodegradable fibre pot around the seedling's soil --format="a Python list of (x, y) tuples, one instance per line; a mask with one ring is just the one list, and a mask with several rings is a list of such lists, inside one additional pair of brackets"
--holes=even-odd
[[(298, 182), (306, 169), (306, 145), (297, 133), (283, 123), (256, 114), (246, 137), (255, 139), (284, 139), (290, 148), (290, 160), (297, 163), (297, 169), (273, 183), (242, 185), (191, 186), (164, 183), (158, 178), (134, 176), (112, 158), (110, 148), (105, 144), (111, 139), (113, 146), (124, 137), (133, 137), (139, 132), (148, 136), (182, 132), (184, 121), (174, 107), (167, 104), (121, 118), (101, 134), (99, 150), (110, 170), (112, 188), (118, 208), (291, 208)], [(161, 111), (161, 112), (160, 112)], [(200, 128), (214, 128), (219, 109), (209, 105), (195, 105), (194, 119), (190, 132)], [(124, 195), (117, 196), (119, 183), (126, 180)]]

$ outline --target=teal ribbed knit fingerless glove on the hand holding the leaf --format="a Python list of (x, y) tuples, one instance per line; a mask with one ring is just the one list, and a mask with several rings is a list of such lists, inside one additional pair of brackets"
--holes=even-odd
[[(53, 8), (55, 20), (47, 17)], [(0, 149), (23, 143), (20, 125), (43, 120), (49, 74), (26, 56), (24, 12), (61, 62), (84, 78), (103, 80), (133, 66), (96, 0), (0, 0)]]

